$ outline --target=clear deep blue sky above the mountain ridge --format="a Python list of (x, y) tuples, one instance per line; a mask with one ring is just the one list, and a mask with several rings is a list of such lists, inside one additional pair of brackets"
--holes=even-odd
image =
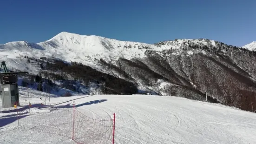
[(0, 0), (0, 44), (60, 32), (156, 43), (256, 41), (256, 0)]

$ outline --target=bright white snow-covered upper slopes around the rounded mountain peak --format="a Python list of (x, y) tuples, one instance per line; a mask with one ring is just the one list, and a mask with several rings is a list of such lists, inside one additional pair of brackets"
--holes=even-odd
[(17, 57), (18, 55), (34, 57), (54, 57), (65, 61), (76, 61), (96, 67), (96, 59), (106, 61), (118, 58), (132, 59), (146, 57), (146, 50), (162, 51), (166, 49), (180, 49), (185, 42), (192, 41), (201, 45), (215, 46), (215, 41), (206, 39), (178, 39), (166, 41), (166, 45), (158, 46), (138, 42), (119, 41), (99, 36), (84, 36), (74, 33), (62, 32), (52, 39), (40, 43), (29, 43), (27, 41), (9, 42), (0, 45), (1, 55), (5, 59)]

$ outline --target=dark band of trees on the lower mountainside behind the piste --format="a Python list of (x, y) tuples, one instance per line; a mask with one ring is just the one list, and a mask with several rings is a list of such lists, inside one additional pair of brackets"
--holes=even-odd
[(78, 62), (71, 62), (71, 65), (54, 60), (43, 66), (40, 74), (46, 79), (80, 81), (82, 83), (96, 83), (101, 85), (102, 92), (105, 94), (135, 94), (137, 86), (125, 79), (119, 79), (107, 73), (98, 72), (90, 66)]

